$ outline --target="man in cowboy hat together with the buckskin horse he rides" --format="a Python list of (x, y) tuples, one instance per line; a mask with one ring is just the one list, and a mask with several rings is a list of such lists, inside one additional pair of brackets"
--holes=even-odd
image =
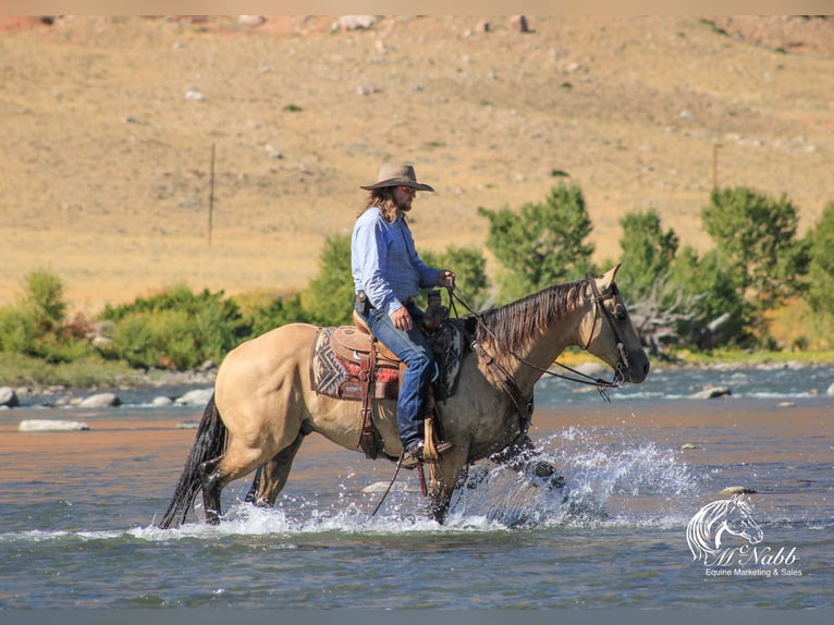
[[(439, 523), (468, 467), (486, 458), (513, 470), (529, 469), (547, 488), (563, 489), (556, 468), (531, 456), (535, 445), (528, 428), (536, 382), (572, 345), (614, 371), (613, 382), (591, 381), (600, 388), (640, 383), (648, 376), (649, 358), (614, 282), (618, 266), (603, 275), (554, 284), (504, 306), (473, 311), (461, 319), (468, 347), (456, 367), (446, 369), (456, 371), (456, 390), (443, 396), (442, 408), (434, 406), (444, 440), (452, 444), (436, 445), (442, 455), (429, 453), (433, 438), (426, 430), (431, 421), (424, 425), (422, 419), (430, 407), (425, 393), (432, 352), (415, 330), (420, 311), (414, 296), (425, 286), (453, 287), (454, 273), (427, 267), (414, 248), (403, 217), (416, 191), (431, 187), (417, 182), (413, 167), (383, 166), (379, 181), (363, 188), (370, 197), (356, 221), (352, 244), (356, 317), (407, 365), (398, 399), (375, 390), (375, 401), (360, 412), (355, 401), (345, 401), (339, 392), (321, 392), (318, 373), (332, 372), (330, 365), (342, 366), (336, 358), (321, 357), (329, 353), (319, 350), (322, 338), (340, 330), (355, 334), (353, 329), (287, 323), (242, 343), (218, 369), (214, 394), (159, 527), (183, 523), (199, 492), (206, 522), (220, 523), (223, 489), (259, 467), (265, 479), (254, 501), (273, 505), (304, 439), (312, 433), (375, 457), (365, 445), (366, 429), (371, 429), (376, 432), (371, 451), (379, 455), (407, 459), (412, 466), (419, 465), (421, 456), (432, 456), (436, 478), (428, 489), (428, 512)], [(335, 390), (347, 392), (352, 379), (346, 376)], [(363, 384), (366, 395), (369, 387)]]

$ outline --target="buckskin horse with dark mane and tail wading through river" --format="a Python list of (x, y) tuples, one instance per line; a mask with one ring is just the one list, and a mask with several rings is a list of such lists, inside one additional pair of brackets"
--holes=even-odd
[[(618, 268), (549, 286), (466, 319), (474, 328), (473, 350), (461, 363), (457, 391), (437, 405), (445, 440), (453, 448), (433, 467), (437, 479), (427, 488), (430, 517), (443, 523), (454, 490), (475, 462), (491, 458), (513, 468), (527, 466), (535, 449), (527, 434), (533, 385), (568, 346), (579, 346), (608, 364), (616, 384), (646, 379), (649, 358), (614, 282)], [(184, 523), (200, 490), (205, 520), (218, 524), (223, 488), (259, 467), (266, 479), (256, 499), (272, 505), (311, 432), (363, 451), (357, 403), (312, 390), (311, 345), (318, 331), (312, 324), (290, 323), (226, 355), (158, 527)], [(375, 401), (371, 408), (383, 454), (402, 457), (396, 401)], [(554, 467), (542, 465), (533, 467), (537, 476), (564, 485)]]

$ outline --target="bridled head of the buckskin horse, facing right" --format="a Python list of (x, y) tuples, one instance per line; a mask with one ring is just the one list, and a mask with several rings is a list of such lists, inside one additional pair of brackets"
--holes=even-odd
[(590, 280), (590, 307), (580, 335), (586, 350), (614, 369), (620, 381), (640, 383), (649, 375), (649, 356), (614, 283), (618, 269)]

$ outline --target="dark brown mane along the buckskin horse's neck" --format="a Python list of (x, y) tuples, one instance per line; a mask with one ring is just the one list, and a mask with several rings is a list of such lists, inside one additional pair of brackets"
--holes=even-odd
[(506, 306), (479, 314), (476, 327), (479, 343), (498, 343), (508, 352), (523, 352), (554, 319), (564, 317), (585, 302), (588, 280), (554, 284)]

